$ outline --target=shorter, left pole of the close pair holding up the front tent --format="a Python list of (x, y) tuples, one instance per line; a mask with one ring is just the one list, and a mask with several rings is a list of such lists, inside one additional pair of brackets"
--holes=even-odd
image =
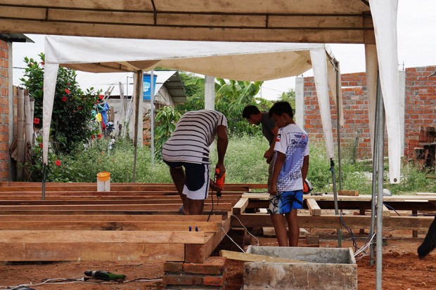
[[(378, 79), (377, 75), (377, 79)], [(378, 81), (377, 81), (378, 82)], [(378, 95), (378, 92), (376, 93)], [(380, 98), (376, 98), (376, 116), (374, 122), (374, 146), (373, 146), (373, 180), (372, 180), (372, 192), (371, 192), (371, 230), (369, 230), (370, 239), (374, 235), (374, 228), (376, 226), (376, 192), (377, 192), (377, 145), (378, 144), (378, 106), (380, 105)], [(374, 241), (374, 240), (373, 240)], [(371, 242), (370, 245), (370, 255), (369, 255), (369, 265), (374, 265), (374, 246), (375, 243)]]

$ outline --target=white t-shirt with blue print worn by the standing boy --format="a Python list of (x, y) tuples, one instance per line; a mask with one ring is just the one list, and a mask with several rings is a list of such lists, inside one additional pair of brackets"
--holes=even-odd
[(278, 129), (274, 151), (286, 155), (277, 178), (278, 191), (303, 189), (302, 173), (304, 156), (309, 155), (309, 138), (297, 124), (289, 124)]

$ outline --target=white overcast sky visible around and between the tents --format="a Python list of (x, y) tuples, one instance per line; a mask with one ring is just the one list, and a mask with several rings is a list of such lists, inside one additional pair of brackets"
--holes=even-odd
[[(34, 44), (13, 44), (13, 67), (23, 67), (25, 56), (36, 58), (44, 51), (44, 36), (26, 34)], [(436, 0), (399, 0), (397, 17), (399, 69), (436, 65)], [(340, 62), (342, 73), (364, 72), (363, 44), (330, 44), (333, 55)], [(23, 70), (13, 70), (13, 84), (20, 84)], [(305, 72), (304, 77), (312, 76)], [(295, 88), (295, 77), (265, 81), (262, 96), (274, 99), (288, 88)]]

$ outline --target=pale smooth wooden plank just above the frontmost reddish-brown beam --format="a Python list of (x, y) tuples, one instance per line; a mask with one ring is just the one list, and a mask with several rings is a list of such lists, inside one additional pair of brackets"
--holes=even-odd
[(108, 230), (4, 230), (2, 243), (144, 243), (204, 244), (204, 232), (188, 231), (108, 231)]

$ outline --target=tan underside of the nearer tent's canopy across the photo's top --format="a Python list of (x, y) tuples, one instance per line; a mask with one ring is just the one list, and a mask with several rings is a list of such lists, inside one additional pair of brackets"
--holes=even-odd
[(374, 44), (364, 0), (0, 0), (7, 33)]

